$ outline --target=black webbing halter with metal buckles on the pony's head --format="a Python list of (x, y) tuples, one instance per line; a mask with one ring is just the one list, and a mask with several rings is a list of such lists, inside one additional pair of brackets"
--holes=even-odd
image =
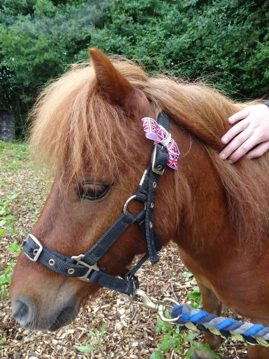
[[(166, 130), (169, 125), (169, 118), (161, 112), (158, 117), (158, 123)], [(68, 257), (56, 252), (48, 247), (42, 246), (33, 234), (29, 234), (26, 241), (22, 244), (25, 255), (31, 261), (39, 261), (53, 271), (69, 276), (77, 277), (91, 283), (96, 283), (117, 292), (133, 295), (133, 289), (138, 288), (138, 280), (135, 272), (141, 265), (150, 258), (151, 264), (159, 261), (157, 252), (161, 250), (161, 243), (156, 235), (153, 226), (153, 213), (155, 206), (156, 192), (160, 176), (164, 173), (168, 162), (168, 153), (160, 144), (154, 146), (151, 162), (145, 170), (140, 184), (135, 192), (124, 205), (123, 213), (112, 224), (112, 226), (103, 234), (103, 236), (90, 248), (84, 255)], [(137, 215), (132, 215), (127, 210), (129, 201), (136, 199), (145, 203), (145, 209)], [(137, 222), (141, 228), (144, 238), (147, 242), (148, 253), (125, 275), (123, 278), (117, 278), (106, 274), (105, 268), (98, 267), (97, 262), (104, 256), (116, 239), (133, 222)]]

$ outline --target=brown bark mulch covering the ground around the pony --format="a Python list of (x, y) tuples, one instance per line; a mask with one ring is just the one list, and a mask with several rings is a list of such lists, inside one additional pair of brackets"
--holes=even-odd
[[(12, 160), (12, 152), (6, 155)], [(15, 171), (9, 171), (4, 165), (0, 169), (0, 199), (19, 194), (10, 204), (12, 215), (18, 218), (14, 221), (18, 243), (22, 243), (25, 233), (33, 227), (48, 188), (48, 183), (24, 160), (20, 161), (20, 168)], [(12, 253), (7, 252), (6, 247), (14, 239), (15, 235), (10, 233), (0, 238), (0, 274), (12, 259)], [(193, 278), (183, 278), (185, 271), (188, 270), (181, 263), (175, 245), (171, 244), (162, 250), (158, 264), (151, 266), (146, 263), (140, 269), (140, 288), (152, 300), (160, 300), (164, 296), (174, 298), (175, 294), (179, 302), (188, 301), (189, 292), (197, 284)], [(105, 325), (101, 343), (103, 353), (98, 348), (90, 354), (78, 351), (74, 345), (84, 345), (91, 339), (88, 333), (100, 334), (102, 322)], [(73, 323), (54, 333), (29, 333), (12, 317), (8, 294), (0, 302), (0, 340), (6, 339), (6, 342), (5, 339), (0, 342), (0, 358), (150, 358), (165, 334), (156, 332), (156, 313), (134, 307), (126, 295), (109, 290), (101, 292), (98, 298), (90, 299)], [(185, 352), (187, 349), (188, 343)], [(218, 355), (223, 359), (245, 359), (245, 353), (245, 344), (226, 340)], [(184, 358), (175, 351), (164, 356)]]

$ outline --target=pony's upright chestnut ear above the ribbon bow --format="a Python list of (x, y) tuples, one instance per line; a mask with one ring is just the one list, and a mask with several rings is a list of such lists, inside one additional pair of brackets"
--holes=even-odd
[(90, 48), (89, 53), (104, 96), (122, 107), (128, 116), (148, 116), (145, 112), (150, 104), (146, 95), (135, 88), (98, 48)]

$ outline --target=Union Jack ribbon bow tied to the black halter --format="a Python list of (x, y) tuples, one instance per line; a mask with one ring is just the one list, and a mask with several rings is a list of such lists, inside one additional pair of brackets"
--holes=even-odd
[(142, 126), (148, 139), (154, 140), (154, 144), (161, 143), (169, 155), (167, 165), (171, 168), (178, 169), (178, 156), (180, 152), (175, 141), (171, 138), (171, 134), (164, 127), (159, 125), (153, 118), (142, 118)]

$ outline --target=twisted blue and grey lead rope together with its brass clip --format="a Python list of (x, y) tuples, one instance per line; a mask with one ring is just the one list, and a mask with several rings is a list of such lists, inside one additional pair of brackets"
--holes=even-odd
[[(142, 300), (138, 300), (141, 297)], [(170, 324), (177, 324), (180, 331), (198, 330), (211, 332), (223, 338), (235, 338), (237, 341), (244, 341), (248, 344), (259, 344), (269, 346), (269, 327), (261, 324), (236, 321), (232, 318), (218, 317), (216, 314), (209, 314), (200, 309), (192, 309), (188, 303), (180, 305), (172, 298), (163, 298), (160, 302), (154, 303), (141, 289), (134, 289), (134, 295), (130, 296), (132, 304), (142, 306), (144, 309), (151, 309), (158, 313), (160, 319)], [(170, 306), (167, 303), (173, 303)], [(166, 318), (167, 310), (171, 310), (171, 317)]]

